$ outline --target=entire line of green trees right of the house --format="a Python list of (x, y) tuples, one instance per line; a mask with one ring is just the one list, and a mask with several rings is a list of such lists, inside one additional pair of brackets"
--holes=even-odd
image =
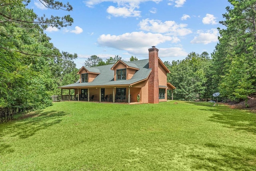
[(212, 93), (230, 101), (245, 101), (256, 92), (256, 0), (228, 0), (219, 42), (210, 55), (194, 52), (182, 61), (166, 62), (168, 80), (179, 100), (211, 99)]

